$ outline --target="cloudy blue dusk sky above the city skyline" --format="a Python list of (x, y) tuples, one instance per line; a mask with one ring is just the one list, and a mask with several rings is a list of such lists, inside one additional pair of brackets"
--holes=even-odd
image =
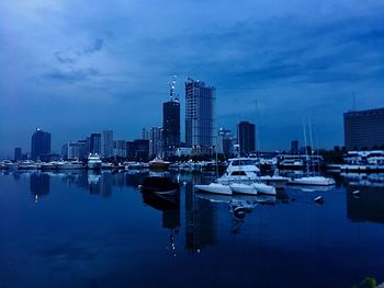
[(303, 122), (342, 145), (345, 112), (384, 106), (383, 15), (381, 0), (0, 0), (0, 157), (36, 127), (56, 152), (103, 129), (137, 139), (173, 74), (182, 115), (187, 78), (205, 81), (216, 127), (256, 123), (261, 150), (303, 143)]

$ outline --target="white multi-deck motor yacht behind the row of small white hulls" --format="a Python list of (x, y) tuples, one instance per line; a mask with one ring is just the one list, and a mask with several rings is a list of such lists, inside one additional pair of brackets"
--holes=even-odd
[(217, 178), (217, 183), (253, 183), (259, 181), (258, 173), (260, 169), (256, 164), (256, 159), (252, 158), (233, 158), (229, 159), (229, 164), (223, 176)]

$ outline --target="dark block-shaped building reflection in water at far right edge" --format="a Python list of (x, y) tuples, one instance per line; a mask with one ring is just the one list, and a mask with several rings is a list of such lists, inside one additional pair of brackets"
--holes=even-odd
[(359, 222), (384, 223), (384, 185), (349, 185), (347, 218)]

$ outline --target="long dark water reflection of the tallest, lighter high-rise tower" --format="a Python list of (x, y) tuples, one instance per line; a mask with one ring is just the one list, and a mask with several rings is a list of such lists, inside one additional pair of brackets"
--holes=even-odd
[(185, 185), (185, 249), (200, 252), (217, 242), (216, 217), (213, 204), (193, 195), (193, 185)]

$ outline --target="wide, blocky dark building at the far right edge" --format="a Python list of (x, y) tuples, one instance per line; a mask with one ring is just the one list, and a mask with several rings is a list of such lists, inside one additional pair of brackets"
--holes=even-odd
[(347, 150), (384, 149), (384, 108), (345, 113)]

